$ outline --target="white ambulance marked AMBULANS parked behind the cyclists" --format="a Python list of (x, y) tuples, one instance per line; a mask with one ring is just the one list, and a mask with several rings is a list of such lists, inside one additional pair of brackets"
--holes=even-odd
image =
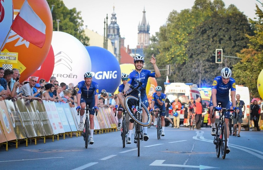
[[(174, 101), (174, 99), (178, 98), (182, 106), (184, 106), (187, 100), (190, 99), (191, 97), (193, 97), (194, 99), (200, 97), (200, 92), (196, 84), (164, 83), (164, 85), (165, 85), (164, 93), (171, 103)], [(169, 116), (171, 119), (173, 119), (172, 110), (169, 110)], [(184, 113), (183, 110), (181, 109), (180, 124), (182, 124), (183, 121), (184, 121)], [(167, 119), (165, 119), (165, 126), (166, 125), (169, 126), (169, 121)]]

